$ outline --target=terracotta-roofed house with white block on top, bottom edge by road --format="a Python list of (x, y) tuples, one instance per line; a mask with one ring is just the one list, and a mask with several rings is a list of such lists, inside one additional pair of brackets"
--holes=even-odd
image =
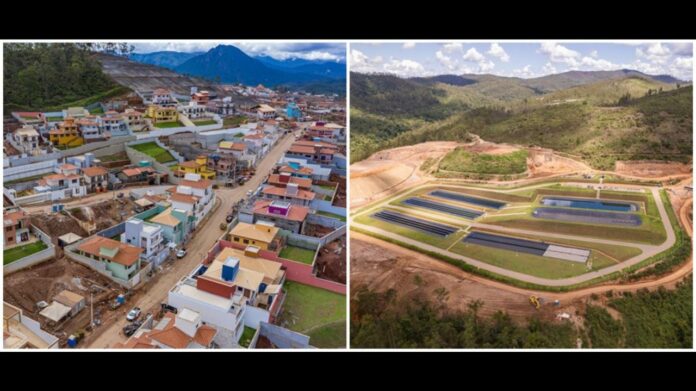
[(204, 324), (201, 315), (188, 308), (177, 314), (167, 312), (150, 329), (138, 331), (126, 342), (118, 342), (116, 349), (210, 349), (217, 329)]

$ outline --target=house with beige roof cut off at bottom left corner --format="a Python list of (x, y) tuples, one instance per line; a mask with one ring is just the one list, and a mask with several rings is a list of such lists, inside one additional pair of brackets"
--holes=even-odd
[(3, 302), (2, 315), (4, 349), (58, 349), (60, 340), (42, 330), (41, 323), (24, 315), (19, 307)]

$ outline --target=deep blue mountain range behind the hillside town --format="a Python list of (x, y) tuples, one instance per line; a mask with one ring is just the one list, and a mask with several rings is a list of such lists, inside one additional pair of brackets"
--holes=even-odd
[(251, 57), (232, 45), (219, 45), (204, 53), (135, 53), (130, 58), (221, 83), (285, 86), (313, 93), (345, 95), (345, 63)]

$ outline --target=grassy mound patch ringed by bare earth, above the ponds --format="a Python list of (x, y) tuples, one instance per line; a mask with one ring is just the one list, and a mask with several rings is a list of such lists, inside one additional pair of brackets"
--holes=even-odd
[(520, 150), (507, 154), (490, 155), (456, 148), (445, 155), (440, 162), (439, 169), (477, 174), (521, 174), (527, 170), (527, 151)]

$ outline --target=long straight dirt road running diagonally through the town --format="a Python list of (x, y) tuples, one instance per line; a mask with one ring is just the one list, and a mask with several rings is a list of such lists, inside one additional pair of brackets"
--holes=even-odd
[[(135, 299), (131, 299), (126, 303), (122, 311), (125, 313), (130, 308), (137, 306), (142, 309), (143, 314), (148, 312), (152, 314), (157, 313), (160, 303), (167, 300), (168, 292), (174, 284), (190, 273), (220, 238), (222, 235), (220, 224), (225, 222), (227, 212), (232, 208), (232, 205), (246, 197), (247, 191), (255, 190), (261, 185), (266, 175), (271, 172), (275, 163), (290, 148), (294, 141), (295, 139), (292, 135), (281, 139), (278, 145), (261, 161), (256, 169), (256, 175), (243, 186), (234, 189), (221, 188), (216, 190), (215, 195), (220, 205), (211, 212), (208, 221), (198, 229), (193, 239), (186, 245), (188, 254), (184, 258), (174, 261), (173, 265), (168, 265), (163, 272), (153, 277), (146, 286), (136, 293)], [(125, 316), (121, 316), (113, 324), (102, 325), (94, 333), (86, 337), (82, 346), (100, 349), (113, 347), (117, 342), (125, 342), (127, 338), (123, 335), (121, 329), (126, 323)]]

